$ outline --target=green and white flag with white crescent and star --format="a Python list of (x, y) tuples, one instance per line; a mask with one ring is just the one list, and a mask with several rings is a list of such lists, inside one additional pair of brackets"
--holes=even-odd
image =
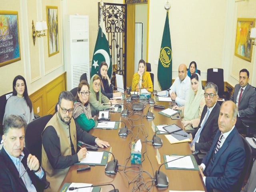
[(98, 29), (98, 36), (94, 47), (94, 54), (92, 57), (92, 72), (91, 76), (97, 74), (101, 62), (105, 61), (108, 64), (108, 77), (112, 77), (112, 62), (109, 51), (108, 38), (106, 36), (106, 28), (102, 18), (102, 10), (100, 10), (100, 24)]

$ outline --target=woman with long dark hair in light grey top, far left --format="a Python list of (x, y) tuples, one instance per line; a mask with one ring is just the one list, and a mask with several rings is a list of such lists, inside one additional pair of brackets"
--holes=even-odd
[(19, 115), (27, 124), (34, 120), (34, 112), (32, 102), (28, 96), (26, 80), (21, 75), (16, 76), (12, 82), (12, 96), (7, 100), (4, 119), (9, 115)]

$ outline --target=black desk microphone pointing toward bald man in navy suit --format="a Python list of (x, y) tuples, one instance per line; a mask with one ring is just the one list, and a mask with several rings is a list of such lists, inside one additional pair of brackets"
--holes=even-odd
[[(198, 154), (198, 151), (195, 151), (195, 152), (192, 153), (192, 155), (196, 155), (196, 154)], [(174, 159), (174, 160), (171, 160), (171, 161), (168, 161), (168, 162), (165, 162), (165, 163), (161, 164), (158, 171), (156, 171), (156, 174), (155, 174), (155, 185), (156, 185), (156, 187), (168, 187), (168, 185), (169, 185), (168, 177), (166, 176), (165, 173), (160, 171), (160, 168), (164, 164), (172, 162), (172, 161), (176, 161), (178, 159), (181, 159), (181, 158), (184, 158), (184, 157), (190, 156), (190, 155), (191, 154), (188, 154), (188, 155), (182, 156), (180, 158), (177, 158), (177, 159)]]

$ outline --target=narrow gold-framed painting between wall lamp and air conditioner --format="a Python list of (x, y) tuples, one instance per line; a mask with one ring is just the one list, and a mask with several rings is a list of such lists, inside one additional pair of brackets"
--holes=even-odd
[(58, 7), (46, 6), (46, 21), (48, 27), (48, 55), (59, 52)]

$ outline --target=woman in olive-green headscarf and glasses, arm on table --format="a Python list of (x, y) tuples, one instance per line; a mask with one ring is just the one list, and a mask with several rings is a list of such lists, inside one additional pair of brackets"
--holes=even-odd
[[(101, 92), (100, 76), (95, 74), (90, 80), (90, 108), (92, 116), (98, 114), (100, 110), (109, 109), (112, 104), (116, 104), (116, 100), (109, 100)], [(107, 104), (107, 105), (104, 105)]]

